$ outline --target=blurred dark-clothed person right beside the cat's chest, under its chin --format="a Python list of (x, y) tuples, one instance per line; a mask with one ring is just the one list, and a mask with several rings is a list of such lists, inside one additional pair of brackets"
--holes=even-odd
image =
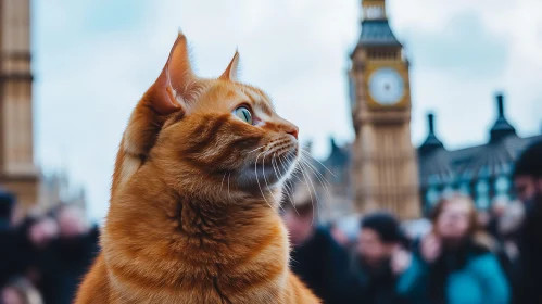
[(298, 187), (292, 201), (285, 204), (282, 216), (293, 246), (292, 271), (324, 303), (352, 303), (345, 292), (349, 287), (349, 255), (328, 229), (316, 226), (314, 195), (308, 191)]

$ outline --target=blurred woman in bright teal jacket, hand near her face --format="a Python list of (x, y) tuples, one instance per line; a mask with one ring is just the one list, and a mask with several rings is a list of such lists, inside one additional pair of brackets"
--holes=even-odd
[(399, 293), (413, 303), (509, 303), (508, 282), (492, 252), (494, 242), (480, 230), (472, 200), (446, 195), (431, 220), (432, 232), (415, 246)]

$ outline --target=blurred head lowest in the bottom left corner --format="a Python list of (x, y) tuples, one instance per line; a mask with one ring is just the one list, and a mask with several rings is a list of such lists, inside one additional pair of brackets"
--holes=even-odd
[(38, 290), (23, 277), (16, 277), (0, 291), (1, 304), (42, 304)]

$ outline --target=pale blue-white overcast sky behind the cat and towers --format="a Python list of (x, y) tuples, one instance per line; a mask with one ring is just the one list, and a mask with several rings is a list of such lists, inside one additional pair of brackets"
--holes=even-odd
[[(134, 105), (159, 75), (180, 27), (196, 71), (217, 76), (236, 48), (241, 80), (325, 156), (351, 140), (345, 73), (360, 0), (34, 0), (36, 160), (65, 168), (103, 217), (116, 149)], [(506, 94), (521, 136), (542, 127), (542, 1), (389, 0), (411, 65), (413, 142), (425, 116), (450, 149), (483, 143)]]

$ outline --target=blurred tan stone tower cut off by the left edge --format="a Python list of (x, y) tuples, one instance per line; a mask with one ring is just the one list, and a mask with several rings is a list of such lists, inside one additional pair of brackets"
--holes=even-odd
[(37, 203), (30, 68), (30, 1), (0, 0), (0, 186)]

